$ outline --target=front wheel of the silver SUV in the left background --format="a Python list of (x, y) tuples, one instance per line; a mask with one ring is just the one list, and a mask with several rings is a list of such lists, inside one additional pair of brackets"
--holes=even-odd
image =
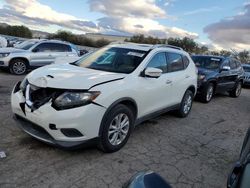
[(9, 70), (11, 74), (23, 75), (27, 72), (28, 64), (23, 59), (14, 59), (10, 62)]

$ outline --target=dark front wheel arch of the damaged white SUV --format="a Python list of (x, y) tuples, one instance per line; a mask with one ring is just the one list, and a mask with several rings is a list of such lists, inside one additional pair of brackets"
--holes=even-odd
[(100, 136), (103, 130), (103, 126), (104, 126), (104, 122), (106, 121), (106, 117), (107, 114), (111, 111), (111, 109), (113, 107), (115, 107), (118, 104), (123, 104), (125, 106), (127, 106), (128, 108), (130, 108), (133, 113), (135, 114), (135, 120), (137, 119), (137, 114), (138, 114), (138, 106), (137, 103), (135, 102), (134, 99), (130, 98), (130, 97), (124, 97), (124, 98), (120, 98), (118, 100), (116, 100), (115, 102), (113, 102), (106, 110), (106, 112), (104, 113), (103, 117), (102, 117), (102, 121), (101, 121), (101, 125), (99, 128), (99, 133), (98, 135)]

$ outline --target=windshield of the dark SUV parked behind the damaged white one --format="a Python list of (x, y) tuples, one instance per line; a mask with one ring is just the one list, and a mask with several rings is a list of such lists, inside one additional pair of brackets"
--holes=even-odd
[(192, 59), (197, 67), (211, 70), (219, 69), (222, 62), (221, 58), (215, 57), (193, 56)]

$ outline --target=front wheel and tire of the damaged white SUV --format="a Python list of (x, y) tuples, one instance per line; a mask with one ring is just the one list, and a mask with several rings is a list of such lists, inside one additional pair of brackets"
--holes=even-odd
[(127, 143), (134, 127), (133, 112), (118, 104), (106, 115), (102, 126), (99, 148), (106, 153), (116, 152)]

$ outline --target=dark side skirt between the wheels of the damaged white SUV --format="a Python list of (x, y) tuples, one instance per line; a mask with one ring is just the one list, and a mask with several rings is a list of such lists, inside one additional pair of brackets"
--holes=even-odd
[(180, 105), (181, 105), (181, 104), (176, 104), (176, 105), (173, 105), (173, 106), (164, 108), (164, 109), (162, 109), (162, 110), (158, 110), (158, 111), (156, 111), (156, 112), (150, 113), (150, 114), (145, 115), (145, 116), (143, 116), (143, 117), (140, 117), (140, 118), (138, 118), (138, 119), (135, 121), (135, 126), (141, 124), (141, 123), (144, 122), (144, 121), (147, 121), (147, 120), (153, 119), (153, 118), (155, 118), (155, 117), (158, 117), (158, 116), (160, 116), (161, 114), (167, 113), (167, 112), (172, 111), (172, 110), (177, 110), (177, 109), (180, 108)]

